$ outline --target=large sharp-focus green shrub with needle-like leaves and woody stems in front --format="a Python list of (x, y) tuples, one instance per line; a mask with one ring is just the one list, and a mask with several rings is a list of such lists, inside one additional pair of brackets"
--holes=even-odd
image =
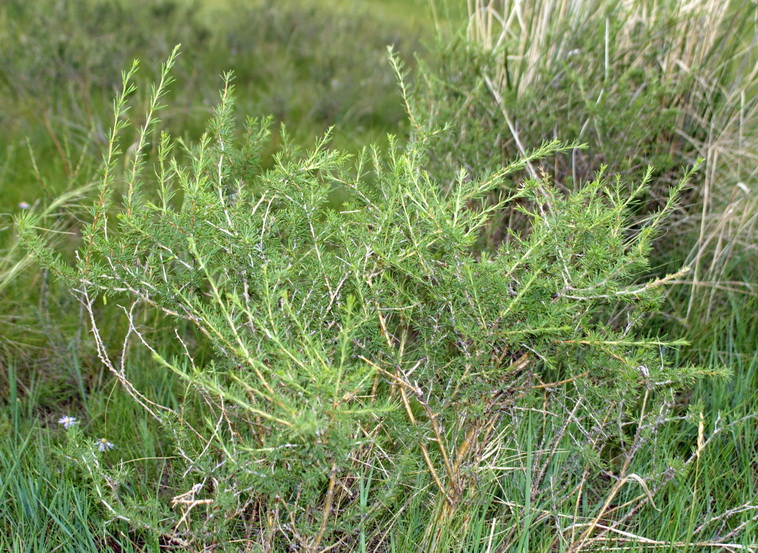
[[(402, 78), (407, 145), (351, 158), (328, 134), (303, 151), (282, 132), (264, 168), (270, 120), (236, 132), (231, 75), (202, 138), (159, 132), (175, 59), (127, 159), (136, 65), (124, 74), (75, 263), (33, 212), (18, 223), (176, 457), (172, 493), (147, 501), (107, 438), (98, 452), (69, 428), (64, 455), (109, 516), (186, 550), (379, 551), (405, 529), (414, 547), (443, 551), (481, 534), (471, 505), (488, 496), (479, 523), (492, 525), (490, 546), (499, 524), (502, 550), (527, 550), (533, 536), (579, 551), (614, 542), (722, 430), (707, 435), (693, 413), (692, 455), (662, 443), (677, 392), (723, 373), (675, 365), (667, 348), (681, 341), (638, 332), (679, 276), (638, 280), (691, 173), (635, 226), (650, 171), (632, 194), (602, 172), (563, 194), (540, 171), (488, 201), (571, 144), (441, 186), (427, 170), (438, 131)], [(480, 234), (507, 208), (528, 225), (482, 251)], [(113, 309), (124, 336), (102, 325)], [(155, 315), (158, 328), (146, 324)], [(177, 405), (134, 384), (135, 347), (183, 383)]]

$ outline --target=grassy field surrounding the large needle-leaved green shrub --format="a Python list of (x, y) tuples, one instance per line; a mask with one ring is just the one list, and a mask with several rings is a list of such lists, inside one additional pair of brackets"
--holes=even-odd
[[(571, 20), (567, 10), (577, 3), (535, 1), (530, 5), (542, 6), (543, 11), (524, 13), (517, 13), (510, 2), (478, 0), (2, 3), (0, 551), (758, 551), (756, 7), (754, 2), (735, 0), (723, 7), (723, 18), (713, 24), (717, 26), (709, 27), (679, 13), (679, 2), (669, 2), (674, 6), (666, 12), (670, 19), (654, 20), (652, 12), (646, 12), (644, 17), (634, 13), (628, 21), (621, 18), (621, 23), (613, 18), (624, 3), (590, 4), (589, 15), (582, 19), (586, 25), (564, 29), (557, 23), (555, 28), (545, 25)], [(512, 18), (507, 16), (509, 9), (516, 10)], [(559, 12), (563, 19), (550, 19)], [(624, 21), (630, 26), (624, 27)], [(640, 39), (642, 31), (638, 36), (619, 30), (623, 36), (613, 50), (608, 35), (612, 23), (618, 23), (618, 29), (631, 29), (633, 24), (648, 29), (649, 24), (651, 36)], [(667, 42), (669, 35), (674, 40)], [(644, 49), (634, 40), (645, 41)], [(432, 445), (449, 438), (451, 451), (460, 451), (469, 438), (456, 442), (460, 428), (454, 422), (448, 420), (439, 430), (435, 416), (428, 416), (425, 424), (430, 435), (436, 434), (428, 449), (423, 440), (406, 436), (397, 442), (383, 434), (372, 436), (375, 441), (367, 437), (366, 444), (372, 445), (361, 443), (356, 451), (376, 448), (380, 461), (353, 467), (336, 491), (334, 470), (331, 479), (316, 482), (316, 515), (306, 508), (302, 526), (300, 518), (296, 524), (297, 513), (289, 518), (286, 514), (291, 503), (277, 497), (267, 511), (263, 503), (251, 501), (236, 519), (224, 521), (223, 536), (214, 534), (216, 511), (193, 502), (198, 491), (217, 490), (207, 484), (182, 503), (189, 480), (182, 474), (184, 452), (177, 444), (184, 442), (177, 441), (176, 426), (151, 416), (134, 393), (138, 390), (150, 402), (181, 412), (200, 434), (211, 435), (200, 444), (203, 453), (212, 442), (216, 448), (214, 439), (227, 430), (219, 431), (222, 419), (217, 422), (217, 411), (207, 408), (218, 398), (209, 400), (205, 394), (211, 388), (198, 392), (192, 379), (188, 382), (181, 371), (167, 370), (156, 361), (181, 356), (179, 344), (185, 342), (174, 338), (189, 336), (185, 347), (195, 351), (198, 365), (216, 370), (212, 340), (193, 335), (187, 321), (177, 323), (165, 312), (139, 309), (141, 328), (147, 329), (157, 351), (137, 347), (133, 334), (127, 344), (130, 327), (118, 308), (119, 303), (126, 305), (124, 297), (99, 297), (96, 317), (90, 318), (91, 312), (55, 277), (50, 265), (40, 266), (30, 243), (21, 242), (17, 227), (19, 218), (33, 214), (34, 226), (46, 229), (46, 243), (65, 263), (74, 264), (74, 252), (87, 236), (86, 222), (103, 182), (103, 156), (109, 146), (122, 150), (112, 166), (121, 179), (119, 196), (127, 196), (127, 176), (140, 156), (150, 164), (145, 181), (159, 180), (152, 163), (161, 156), (160, 141), (153, 139), (140, 149), (137, 129), (149, 113), (160, 63), (178, 43), (182, 49), (171, 72), (174, 82), (160, 98), (166, 107), (159, 112), (156, 128), (175, 137), (175, 150), (201, 139), (224, 86), (221, 75), (233, 71), (241, 117), (229, 136), (243, 134), (244, 116), (272, 117), (271, 139), (262, 142), (261, 171), (277, 166), (275, 154), (282, 148), (292, 150), (295, 159), (307, 158), (310, 154), (298, 151), (311, 150), (333, 127), (329, 147), (353, 155), (353, 160), (363, 159), (364, 148), (373, 148), (376, 161), (369, 155), (366, 165), (378, 169), (366, 179), (386, 184), (392, 182), (382, 180), (390, 178), (388, 173), (402, 172), (396, 160), (403, 152), (411, 152), (411, 161), (406, 161), (412, 165), (415, 145), (426, 145), (428, 133), (431, 153), (423, 154), (428, 166), (409, 172), (409, 182), (423, 181), (418, 175), (432, 175), (446, 190), (461, 166), (468, 170), (463, 181), (477, 182), (544, 140), (576, 140), (589, 143), (589, 149), (558, 152), (534, 161), (534, 168), (519, 166), (512, 182), (505, 179), (487, 201), (517, 189), (530, 170), (536, 173), (541, 167), (559, 193), (569, 194), (592, 180), (600, 165), (609, 165), (609, 173), (621, 174), (631, 185), (641, 179), (647, 163), (654, 163), (653, 186), (630, 202), (636, 211), (632, 222), (621, 227), (631, 244), (635, 233), (655, 218), (655, 209), (667, 205), (668, 190), (683, 166), (705, 158), (654, 247), (646, 250), (651, 267), (636, 276), (665, 278), (683, 264), (693, 271), (670, 279), (665, 296), (650, 300), (649, 305), (662, 301), (662, 307), (634, 323), (639, 322), (635, 336), (640, 343), (687, 342), (656, 349), (662, 371), (665, 357), (672, 367), (697, 366), (692, 374), (714, 377), (693, 378), (661, 400), (656, 419), (647, 411), (647, 394), (618, 403), (614, 396), (606, 404), (600, 396), (584, 398), (579, 387), (572, 387), (576, 375), (586, 374), (581, 363), (567, 375), (561, 372), (564, 358), (555, 351), (543, 352), (545, 372), (537, 376), (554, 376), (557, 384), (520, 384), (527, 386), (528, 397), (521, 398), (523, 403), (509, 403), (510, 422), (496, 425), (480, 444), (479, 461), (486, 470), (472, 461), (470, 467), (456, 466), (447, 476), (436, 473), (435, 464), (449, 463), (444, 447), (438, 452)], [(513, 54), (508, 50), (513, 44), (522, 44), (523, 51)], [(698, 44), (710, 49), (698, 49)], [(388, 45), (405, 63), (406, 96), (388, 59)], [(579, 55), (568, 56), (574, 51)], [(112, 141), (114, 97), (135, 58), (140, 60), (137, 90), (123, 117), (132, 127)], [(508, 65), (514, 59), (530, 62), (516, 64), (516, 69)], [(677, 60), (678, 67), (682, 60), (691, 61), (700, 73), (691, 79), (679, 77)], [(511, 79), (521, 84), (513, 86)], [(409, 119), (409, 106), (412, 113), (432, 121), (436, 131)], [(440, 131), (446, 124), (448, 128)], [(192, 152), (187, 148), (179, 157), (189, 159)], [(220, 175), (220, 163), (218, 171)], [(346, 174), (357, 181), (361, 171)], [(349, 178), (330, 190), (330, 206), (351, 198)], [(146, 193), (148, 200), (158, 202), (151, 194)], [(483, 209), (487, 201), (477, 197), (468, 207)], [(479, 261), (494, 255), (503, 243), (505, 249), (513, 247), (504, 238), (506, 230), (522, 224), (519, 210), (532, 205), (523, 201), (516, 210), (493, 217), (472, 256)], [(429, 251), (437, 255), (431, 245)], [(482, 282), (485, 292), (498, 289)], [(286, 300), (286, 295), (277, 300), (282, 309)], [(550, 298), (547, 302), (552, 305)], [(398, 307), (397, 313), (403, 309)], [(602, 332), (606, 320), (614, 327), (625, 313), (625, 308), (609, 302), (584, 320), (601, 321)], [(530, 317), (527, 312), (516, 315), (514, 324)], [(94, 328), (104, 337), (99, 342), (92, 335), (95, 318)], [(381, 315), (380, 320), (384, 327)], [(386, 329), (383, 332), (386, 337)], [(423, 332), (413, 329), (410, 335), (409, 343)], [(361, 339), (369, 340), (355, 340)], [(398, 342), (404, 347), (405, 340)], [(104, 353), (117, 363), (123, 356), (123, 378), (114, 377), (103, 363)], [(553, 365), (550, 355), (558, 359)], [(571, 355), (584, 359), (587, 367), (596, 366), (590, 353), (583, 357), (581, 348)], [(618, 357), (615, 349), (598, 355), (607, 355), (608, 363)], [(603, 367), (598, 370), (604, 374)], [(724, 372), (729, 378), (717, 378)], [(687, 373), (683, 369), (681, 374)], [(400, 391), (411, 381), (392, 378), (375, 384), (371, 393), (386, 387), (400, 414), (427, 420), (434, 406), (419, 401), (411, 408)], [(510, 382), (510, 392), (500, 392), (518, 395), (513, 391), (517, 384)], [(219, 392), (218, 397), (223, 405), (224, 398), (232, 396)], [(574, 418), (585, 401), (595, 411)], [(606, 420), (615, 412), (603, 412), (603, 405), (618, 407), (617, 427)], [(642, 413), (638, 426), (635, 413)], [(643, 415), (651, 421), (647, 426)], [(64, 429), (60, 421), (67, 416), (75, 417), (77, 424)], [(232, 428), (229, 422), (230, 436)], [(595, 431), (612, 436), (590, 436)], [(603, 447), (593, 449), (604, 440)], [(219, 443), (215, 451), (223, 457), (220, 438)], [(217, 468), (209, 468), (208, 474), (216, 474)], [(385, 475), (395, 469), (402, 477), (392, 481)], [(466, 482), (465, 489), (456, 488), (453, 499), (445, 498), (446, 486), (452, 486), (440, 481), (445, 478)], [(299, 498), (300, 493), (298, 485), (293, 495)], [(340, 526), (341, 507), (332, 507), (333, 497), (344, 501), (345, 512), (352, 508), (358, 513), (346, 519), (349, 527)], [(220, 498), (214, 496), (221, 509)], [(322, 526), (321, 509), (326, 513)], [(332, 533), (325, 531), (327, 527)], [(305, 533), (299, 535), (298, 528)], [(269, 541), (261, 537), (266, 535), (272, 536)]]

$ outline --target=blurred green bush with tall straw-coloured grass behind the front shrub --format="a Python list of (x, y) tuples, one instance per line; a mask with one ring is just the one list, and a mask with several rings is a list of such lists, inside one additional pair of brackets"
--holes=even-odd
[[(556, 184), (576, 190), (606, 165), (633, 186), (652, 165), (652, 186), (636, 210), (644, 218), (665, 202), (682, 167), (703, 158), (706, 169), (654, 259), (665, 270), (693, 268), (682, 316), (718, 318), (725, 295), (711, 284), (752, 281), (756, 272), (747, 246), (756, 241), (758, 208), (755, 3), (476, 0), (468, 7), (465, 31), (440, 37), (420, 71), (419, 109), (450, 127), (430, 170), (447, 182), (460, 166), (478, 174), (547, 137), (576, 141), (586, 148), (546, 167)], [(498, 243), (501, 229), (515, 224), (506, 214), (489, 240)], [(680, 252), (673, 260), (672, 250)], [(737, 286), (755, 293), (752, 282)]]

